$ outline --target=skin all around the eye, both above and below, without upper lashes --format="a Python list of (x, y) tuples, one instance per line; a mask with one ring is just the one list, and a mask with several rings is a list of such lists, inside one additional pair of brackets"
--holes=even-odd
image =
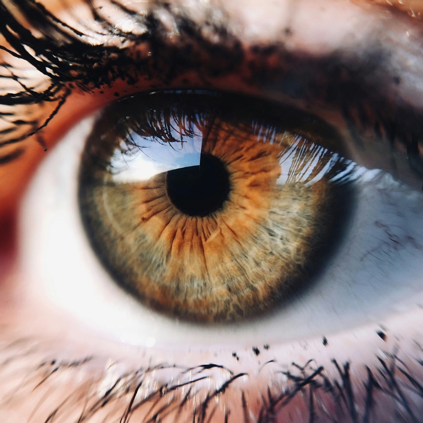
[[(43, 4), (69, 25), (78, 25), (65, 3)], [(394, 108), (395, 113), (405, 116), (410, 110), (422, 110), (420, 1), (387, 5), (382, 1), (250, 0), (227, 1), (224, 7), (217, 2), (181, 1), (179, 7), (171, 7), (173, 15), (168, 13), (169, 9), (160, 8), (162, 4), (158, 2), (124, 4), (134, 11), (131, 16), (144, 16), (146, 10), (156, 7), (168, 31), (166, 44), (158, 49), (163, 55), (177, 51), (178, 57), (182, 57), (182, 50), (177, 47), (183, 32), (178, 33), (180, 28), (172, 26), (172, 17), (181, 11), (202, 28), (202, 37), (195, 38), (197, 41), (216, 36), (215, 28), (202, 24), (205, 16), (214, 12), (214, 21), (233, 35), (233, 38), (221, 35), (223, 42), (215, 41), (219, 54), (232, 51), (230, 48), (237, 45), (234, 41), (240, 41), (243, 55), (233, 67), (235, 56), (230, 55), (226, 61), (220, 56), (221, 66), (219, 62), (214, 73), (209, 72), (213, 50), (199, 42), (194, 47), (201, 46), (207, 51), (201, 64), (197, 68), (181, 66), (172, 78), (165, 72), (168, 70), (165, 58), (150, 79), (143, 79), (142, 72), (141, 76), (135, 73), (137, 78), (132, 83), (127, 78), (115, 78), (107, 85), (101, 84), (99, 78), (98, 86), (94, 82), (84, 91), (80, 78), (44, 129), (0, 147), (0, 421), (421, 422), (420, 307), (388, 316), (383, 322), (289, 342), (222, 344), (216, 340), (215, 345), (145, 347), (101, 336), (90, 328), (90, 322), (81, 322), (60, 309), (40, 304), (25, 292), (16, 229), (24, 188), (45, 157), (45, 149), (50, 150), (78, 120), (118, 96), (159, 88), (204, 87), (207, 83), (212, 89), (267, 96), (301, 106), (307, 104), (309, 95), (317, 94), (306, 92), (296, 98), (286, 87), (275, 84), (272, 73), (262, 72), (263, 69), (274, 66), (279, 70), (282, 65), (287, 69), (290, 66), (306, 69), (313, 65), (316, 74), (320, 71), (324, 75), (333, 57), (346, 70), (361, 57), (364, 64), (351, 76), (352, 87), (362, 84), (366, 91), (371, 86), (375, 93), (385, 96), (386, 104), (400, 99), (395, 107), (383, 109), (386, 115), (394, 113)], [(107, 15), (110, 2), (104, 5)], [(15, 10), (13, 7), (11, 10)], [(83, 1), (72, 2), (72, 7), (88, 26), (96, 24)], [(138, 21), (137, 27), (136, 19), (130, 20), (127, 15), (115, 12), (113, 18), (115, 27), (123, 28), (126, 34), (138, 30), (142, 35), (139, 28), (144, 21)], [(92, 34), (88, 44), (115, 43), (131, 57), (136, 56), (136, 51), (144, 57), (145, 45), (141, 42), (131, 45), (127, 38), (121, 33), (114, 34), (114, 38)], [(378, 51), (375, 40), (381, 46)], [(10, 48), (4, 39), (1, 45)], [(22, 67), (22, 60), (6, 52), (2, 54), (2, 62)], [(323, 60), (327, 57), (332, 62)], [(123, 63), (121, 57), (119, 60)], [(137, 63), (144, 64), (141, 60)], [(245, 63), (251, 66), (246, 69)], [(35, 72), (31, 78), (32, 86), (37, 85), (36, 81), (48, 84), (48, 73)], [(305, 85), (310, 82), (307, 78), (305, 73), (301, 80)], [(13, 82), (0, 80), (2, 94), (22, 91), (22, 87), (13, 87)], [(70, 87), (68, 81), (60, 84), (63, 89)], [(376, 104), (376, 97), (366, 101)], [(331, 97), (333, 104), (319, 110), (315, 107), (313, 112), (347, 132), (345, 116), (335, 111), (341, 98), (346, 97)], [(351, 94), (347, 103), (353, 102)], [(31, 107), (14, 105), (13, 113), (19, 118), (37, 115), (41, 125), (55, 106), (54, 102)], [(21, 128), (13, 133), (26, 130)], [(7, 137), (11, 138), (5, 133), (4, 139)], [(405, 150), (405, 146), (409, 147), (407, 142), (398, 141), (396, 148)], [(373, 164), (369, 155), (361, 159), (373, 167), (384, 166), (383, 161)], [(405, 175), (404, 179), (411, 177)]]

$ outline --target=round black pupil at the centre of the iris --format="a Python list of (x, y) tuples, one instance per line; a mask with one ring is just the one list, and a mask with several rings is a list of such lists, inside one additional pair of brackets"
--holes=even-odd
[(169, 171), (166, 188), (170, 201), (181, 212), (207, 216), (228, 199), (229, 176), (220, 159), (202, 154), (200, 166)]

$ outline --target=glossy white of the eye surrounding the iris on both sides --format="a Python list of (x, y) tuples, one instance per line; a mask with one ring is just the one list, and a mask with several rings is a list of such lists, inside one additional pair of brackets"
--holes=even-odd
[(24, 198), (19, 263), (28, 301), (122, 342), (174, 348), (326, 335), (423, 302), (423, 196), (370, 172), (372, 178), (357, 182), (356, 211), (337, 253), (313, 286), (283, 310), (248, 323), (204, 327), (145, 308), (108, 276), (80, 221), (79, 162), (93, 119), (76, 125), (50, 153)]

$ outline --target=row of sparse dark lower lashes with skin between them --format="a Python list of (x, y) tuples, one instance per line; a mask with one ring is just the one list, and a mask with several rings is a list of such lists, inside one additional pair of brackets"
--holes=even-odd
[[(38, 365), (29, 367), (28, 360), (35, 361), (42, 350), (42, 344), (28, 339), (0, 349), (1, 371), (10, 375), (7, 381), (13, 386), (2, 403), (1, 412), (11, 413), (8, 417), (15, 405), (32, 398), (39, 401), (33, 401), (36, 405), (28, 413), (43, 422), (53, 416), (73, 423), (67, 417), (74, 415), (79, 422), (103, 417), (125, 423), (170, 417), (182, 423), (187, 416), (196, 423), (270, 423), (293, 416), (301, 422), (385, 422), (384, 416), (422, 422), (423, 391), (416, 373), (411, 373), (411, 363), (420, 362), (421, 354), (400, 357), (395, 348), (393, 353), (380, 351), (371, 366), (335, 359), (325, 366), (315, 360), (286, 365), (271, 359), (258, 375), (215, 363), (192, 368), (161, 363), (124, 370), (123, 364), (105, 367), (93, 357), (38, 359)], [(235, 355), (242, 361), (245, 353)], [(419, 366), (422, 371), (421, 365), (416, 370)]]

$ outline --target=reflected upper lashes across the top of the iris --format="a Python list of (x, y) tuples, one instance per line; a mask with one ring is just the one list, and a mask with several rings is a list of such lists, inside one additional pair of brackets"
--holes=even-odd
[[(183, 90), (177, 90), (170, 91), (169, 94), (175, 95), (175, 93), (179, 93), (184, 95), (201, 95), (205, 93), (204, 90), (188, 90), (187, 92)], [(212, 98), (218, 97), (217, 93), (210, 93), (207, 92), (207, 95), (209, 96), (209, 103), (210, 103), (210, 96)], [(245, 100), (245, 99), (244, 99)], [(144, 102), (148, 102), (148, 97), (145, 96), (143, 99)], [(227, 99), (227, 101), (230, 101)], [(255, 100), (255, 104), (258, 102), (258, 100)], [(205, 102), (206, 99), (205, 99)], [(139, 104), (139, 103), (138, 103)], [(157, 103), (149, 102), (150, 105), (152, 105), (149, 112), (146, 112), (146, 109), (144, 109), (144, 112), (138, 112), (136, 113), (136, 117), (132, 114), (133, 111), (133, 105), (131, 106), (124, 106), (124, 102), (120, 101), (117, 103), (117, 107), (114, 110), (114, 113), (110, 117), (110, 121), (115, 122), (115, 125), (113, 126), (113, 132), (115, 131), (116, 134), (116, 142), (118, 142), (118, 145), (114, 146), (114, 148), (117, 148), (117, 150), (120, 150), (120, 153), (122, 156), (131, 156), (132, 154), (137, 155), (140, 151), (142, 151), (144, 154), (148, 156), (148, 145), (140, 145), (139, 139), (135, 141), (133, 139), (133, 133), (135, 132), (137, 135), (141, 137), (146, 137), (148, 141), (154, 141), (159, 142), (161, 144), (168, 144), (171, 146), (171, 148), (174, 148), (172, 146), (172, 143), (176, 143), (181, 145), (182, 143), (185, 143), (186, 140), (183, 140), (185, 137), (192, 137), (195, 135), (194, 127), (199, 130), (199, 132), (202, 131), (202, 129), (205, 129), (206, 127), (219, 127), (220, 123), (217, 123), (215, 121), (216, 114), (219, 114), (219, 106), (208, 104), (209, 108), (207, 109), (207, 106), (203, 106), (202, 112), (199, 112), (197, 107), (195, 106), (188, 106), (188, 105), (182, 105), (179, 104), (179, 106), (176, 106), (175, 104), (172, 105), (166, 105), (162, 107), (157, 107)], [(244, 101), (245, 106), (245, 101)], [(269, 106), (269, 105), (267, 105)], [(231, 106), (230, 108), (236, 110), (238, 107), (236, 106), (236, 103)], [(210, 113), (210, 114), (209, 114)], [(341, 170), (345, 170), (348, 166), (352, 164), (352, 161), (342, 157), (342, 154), (339, 155), (340, 150), (337, 152), (331, 151), (330, 148), (333, 148), (334, 146), (331, 145), (325, 145), (325, 137), (329, 138), (336, 138), (338, 139), (338, 134), (332, 133), (332, 131), (328, 130), (327, 128), (325, 131), (325, 134), (322, 136), (322, 134), (316, 133), (315, 131), (311, 131), (313, 135), (308, 133), (307, 131), (304, 132), (302, 128), (295, 128), (295, 129), (288, 129), (284, 126), (283, 122), (279, 122), (281, 126), (276, 124), (275, 122), (269, 123), (267, 122), (266, 126), (262, 126), (261, 119), (264, 119), (265, 115), (266, 118), (269, 117), (269, 113), (266, 112), (259, 112), (257, 110), (249, 111), (249, 113), (252, 113), (251, 116), (247, 116), (248, 112), (246, 110), (243, 110), (241, 113), (242, 118), (240, 116), (235, 117), (235, 115), (232, 116), (233, 121), (231, 120), (232, 129), (238, 128), (241, 132), (245, 130), (251, 130), (255, 136), (257, 137), (258, 141), (261, 142), (270, 142), (272, 139), (272, 142), (282, 142), (283, 134), (286, 130), (294, 131), (298, 135), (297, 142), (302, 145), (301, 148), (295, 148), (291, 151), (292, 154), (298, 154), (298, 151), (302, 151), (305, 153), (306, 151), (308, 154), (312, 156), (310, 160), (307, 161), (300, 161), (297, 163), (296, 167), (293, 167), (290, 169), (289, 177), (293, 178), (294, 175), (300, 175), (302, 172), (302, 169), (305, 169), (308, 165), (312, 163), (314, 158), (317, 156), (320, 156), (323, 154), (322, 152), (325, 151), (324, 154), (330, 154), (332, 155), (332, 164), (330, 169), (327, 170), (326, 176), (327, 177), (334, 177)], [(288, 114), (288, 113), (284, 113)], [(254, 116), (254, 119), (253, 117)], [(240, 118), (240, 119), (238, 119)], [(258, 120), (256, 120), (258, 119)], [(288, 119), (289, 120), (289, 119)], [(291, 122), (293, 123), (293, 122)], [(248, 129), (247, 129), (248, 128)], [(221, 128), (220, 130), (224, 131), (225, 129)], [(318, 132), (318, 131), (317, 131)], [(245, 133), (245, 132), (243, 132)], [(279, 134), (282, 135), (282, 138), (276, 137), (273, 138), (272, 134)], [(175, 137), (176, 134), (176, 137)], [(316, 143), (313, 143), (309, 145), (309, 142), (307, 139), (309, 136), (314, 137), (314, 140)], [(207, 137), (207, 136), (206, 136)], [(147, 141), (147, 143), (148, 143)], [(332, 141), (333, 142), (333, 141)], [(321, 144), (321, 145), (320, 145)], [(324, 146), (322, 146), (324, 145)], [(110, 145), (104, 145), (106, 148), (106, 151), (110, 148)], [(292, 144), (289, 144), (289, 146), (286, 147), (286, 150), (283, 151), (282, 157), (285, 157), (284, 160), (287, 160), (288, 150), (292, 149)], [(338, 148), (340, 146), (337, 146)], [(294, 153), (296, 151), (296, 153)], [(343, 152), (342, 152), (343, 153)], [(106, 153), (107, 154), (107, 153)], [(102, 156), (102, 154), (100, 154)], [(281, 157), (281, 159), (282, 159)], [(99, 157), (95, 158), (95, 163), (97, 166), (99, 166), (102, 169), (107, 170), (108, 172), (113, 173), (115, 169), (113, 166), (105, 162), (104, 160), (100, 159)], [(321, 162), (321, 165), (323, 165), (323, 162)], [(353, 164), (353, 166), (355, 166)], [(315, 167), (315, 169), (318, 169)], [(321, 170), (321, 168), (319, 168)], [(316, 171), (317, 172), (317, 171)], [(317, 172), (318, 173), (318, 172)], [(338, 178), (336, 180), (337, 184), (343, 184), (348, 182), (350, 179), (350, 172), (346, 173), (343, 177)]]

